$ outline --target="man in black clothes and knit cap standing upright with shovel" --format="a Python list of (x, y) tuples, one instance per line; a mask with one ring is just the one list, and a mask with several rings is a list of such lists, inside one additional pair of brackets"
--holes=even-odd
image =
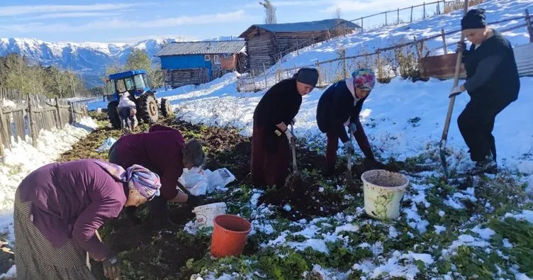
[(511, 44), (498, 31), (487, 28), (485, 10), (473, 9), (461, 20), (461, 29), (472, 43), (464, 50), (466, 82), (451, 89), (450, 97), (467, 91), (469, 103), (457, 118), (459, 130), (476, 162), (472, 172), (498, 172), (496, 144), (492, 131), (495, 118), (517, 100), (520, 79)]

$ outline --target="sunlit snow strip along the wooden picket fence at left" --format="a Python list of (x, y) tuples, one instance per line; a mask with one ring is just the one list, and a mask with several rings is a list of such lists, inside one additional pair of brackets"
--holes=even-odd
[(41, 130), (37, 147), (33, 147), (28, 137), (26, 141), (13, 141), (11, 150), (5, 150), (0, 163), (0, 232), (8, 234), (9, 242), (13, 241), (13, 201), (18, 184), (33, 170), (55, 162), (94, 128), (96, 123), (91, 118), (83, 118), (62, 130)]

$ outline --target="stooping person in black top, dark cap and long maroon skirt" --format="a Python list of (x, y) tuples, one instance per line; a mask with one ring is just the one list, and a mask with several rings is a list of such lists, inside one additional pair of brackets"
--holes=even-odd
[(291, 160), (289, 142), (294, 135), (287, 125), (294, 123), (302, 96), (318, 82), (318, 71), (299, 69), (291, 79), (274, 84), (254, 111), (251, 180), (255, 186), (284, 186)]

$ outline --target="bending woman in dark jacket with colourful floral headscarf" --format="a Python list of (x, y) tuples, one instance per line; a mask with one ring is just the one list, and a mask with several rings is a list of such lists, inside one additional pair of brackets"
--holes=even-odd
[[(365, 159), (366, 169), (378, 169), (383, 164), (376, 162), (370, 143), (359, 121), (359, 113), (366, 97), (374, 89), (376, 79), (371, 69), (359, 69), (348, 78), (332, 84), (324, 91), (317, 106), (317, 124), (322, 133), (326, 133), (326, 168), (325, 175), (335, 172), (339, 138), (344, 143), (344, 150), (354, 152), (354, 145), (349, 133), (354, 134)], [(348, 134), (344, 127), (348, 127)]]

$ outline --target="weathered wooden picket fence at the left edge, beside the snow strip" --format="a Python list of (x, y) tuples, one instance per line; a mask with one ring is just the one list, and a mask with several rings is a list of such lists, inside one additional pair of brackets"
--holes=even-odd
[(11, 149), (14, 142), (32, 140), (37, 147), (40, 130), (62, 129), (88, 116), (86, 101), (48, 99), (43, 95), (20, 94), (11, 89), (0, 89), (0, 156), (4, 148)]

